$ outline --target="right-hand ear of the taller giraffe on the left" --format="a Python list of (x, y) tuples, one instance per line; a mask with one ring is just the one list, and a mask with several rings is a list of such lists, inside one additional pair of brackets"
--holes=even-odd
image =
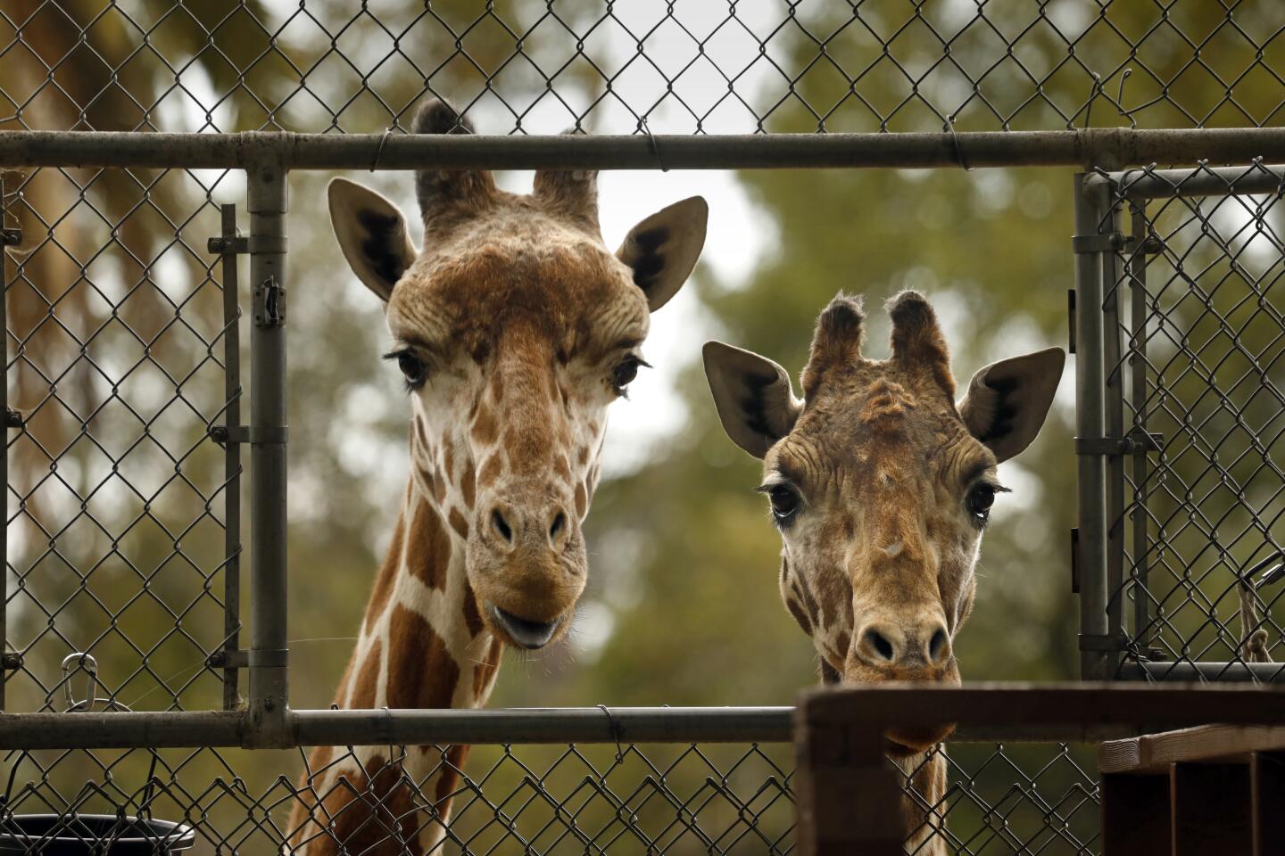
[(691, 196), (631, 228), (616, 250), (616, 257), (634, 271), (634, 282), (646, 294), (651, 312), (668, 303), (687, 281), (705, 245), (708, 221), (709, 205), (700, 196)]

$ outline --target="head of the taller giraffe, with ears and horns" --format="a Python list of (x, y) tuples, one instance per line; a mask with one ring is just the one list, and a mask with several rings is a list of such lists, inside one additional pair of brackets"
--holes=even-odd
[[(472, 132), (442, 101), (414, 130)], [(428, 509), (407, 525), (436, 526), (437, 549), (464, 558), (474, 622), (540, 648), (585, 588), (581, 521), (607, 407), (646, 366), (649, 314), (695, 266), (707, 207), (691, 198), (651, 214), (612, 253), (594, 172), (537, 172), (533, 193), (515, 195), (486, 171), (424, 169), (415, 190), (419, 252), (387, 199), (342, 178), (329, 189), (344, 257), (384, 302), (388, 358), (414, 409), (410, 489)]]

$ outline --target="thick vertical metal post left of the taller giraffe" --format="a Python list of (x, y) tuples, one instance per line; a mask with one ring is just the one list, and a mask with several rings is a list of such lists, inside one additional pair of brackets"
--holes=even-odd
[(285, 210), (287, 172), (263, 148), (245, 169), (249, 196), (251, 649), (248, 739), (287, 739)]

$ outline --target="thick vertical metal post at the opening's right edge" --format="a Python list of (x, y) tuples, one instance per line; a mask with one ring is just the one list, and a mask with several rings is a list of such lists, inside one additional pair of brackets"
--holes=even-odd
[[(1108, 185), (1076, 175), (1076, 453), (1079, 483), (1079, 651), (1081, 676), (1109, 675), (1106, 615), (1106, 474), (1095, 444), (1105, 439), (1103, 245)], [(1106, 248), (1108, 250), (1110, 248)]]

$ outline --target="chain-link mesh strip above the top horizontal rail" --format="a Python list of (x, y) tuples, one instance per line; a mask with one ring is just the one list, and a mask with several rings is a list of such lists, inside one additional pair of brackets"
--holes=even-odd
[(599, 133), (1273, 123), (1272, 3), (18, 0), (0, 127)]

